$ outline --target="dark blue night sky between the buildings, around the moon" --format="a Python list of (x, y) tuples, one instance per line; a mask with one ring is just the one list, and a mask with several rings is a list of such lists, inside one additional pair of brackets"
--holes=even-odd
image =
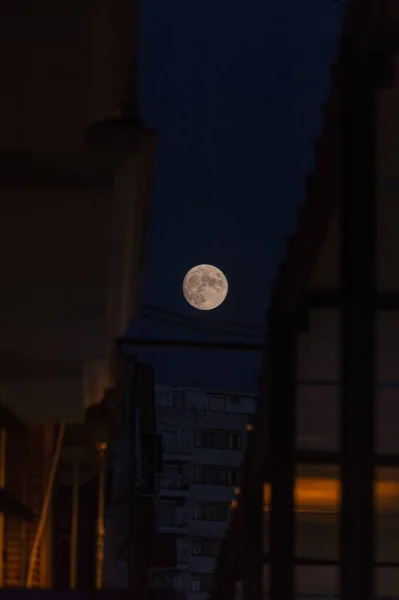
[[(264, 322), (312, 169), (342, 16), (334, 0), (142, 0), (140, 105), (159, 132), (143, 302), (211, 324)], [(198, 263), (229, 280), (227, 300), (209, 313), (181, 293)], [(130, 333), (221, 339), (144, 319)], [(253, 354), (137, 355), (158, 383), (257, 389)]]

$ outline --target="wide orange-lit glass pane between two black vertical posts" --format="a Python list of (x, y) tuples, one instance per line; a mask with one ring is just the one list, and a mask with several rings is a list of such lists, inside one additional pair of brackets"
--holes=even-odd
[(295, 482), (296, 555), (338, 559), (339, 468), (299, 465)]

